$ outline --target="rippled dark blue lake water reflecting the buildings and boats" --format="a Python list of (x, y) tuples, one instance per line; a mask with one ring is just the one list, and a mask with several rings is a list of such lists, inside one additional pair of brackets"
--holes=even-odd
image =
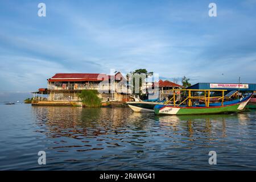
[(1, 104), (0, 169), (256, 169), (256, 110), (157, 117), (129, 107)]

